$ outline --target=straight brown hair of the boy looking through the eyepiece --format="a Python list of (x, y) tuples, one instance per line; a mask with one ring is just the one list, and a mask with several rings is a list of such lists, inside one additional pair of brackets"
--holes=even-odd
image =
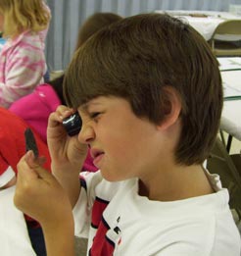
[(180, 20), (143, 14), (97, 32), (75, 53), (64, 93), (73, 108), (101, 95), (122, 97), (137, 117), (160, 124), (167, 85), (182, 103), (176, 163), (201, 164), (217, 136), (221, 78), (209, 44)]

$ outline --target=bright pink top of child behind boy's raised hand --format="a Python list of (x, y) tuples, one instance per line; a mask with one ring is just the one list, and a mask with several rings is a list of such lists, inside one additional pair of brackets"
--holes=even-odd
[[(47, 143), (48, 118), (59, 105), (61, 105), (61, 101), (53, 87), (48, 83), (43, 83), (38, 85), (32, 93), (15, 101), (9, 110), (24, 119), (29, 126), (35, 128), (43, 141)], [(97, 170), (89, 152), (82, 170), (90, 172)]]

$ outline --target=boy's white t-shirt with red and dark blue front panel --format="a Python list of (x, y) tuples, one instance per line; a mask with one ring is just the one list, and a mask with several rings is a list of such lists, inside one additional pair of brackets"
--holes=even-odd
[(171, 202), (139, 196), (137, 179), (81, 176), (75, 235), (89, 238), (91, 255), (240, 256), (228, 191), (217, 175), (208, 174), (216, 193)]

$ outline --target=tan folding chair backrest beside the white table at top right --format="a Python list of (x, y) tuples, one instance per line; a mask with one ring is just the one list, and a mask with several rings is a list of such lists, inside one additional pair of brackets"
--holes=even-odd
[(216, 56), (241, 56), (241, 20), (220, 23), (209, 42)]

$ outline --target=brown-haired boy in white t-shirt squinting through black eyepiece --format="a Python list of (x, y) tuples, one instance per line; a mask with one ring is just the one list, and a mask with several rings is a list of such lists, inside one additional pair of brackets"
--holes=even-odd
[[(48, 255), (74, 255), (73, 217), (89, 255), (240, 254), (227, 190), (202, 168), (222, 86), (201, 35), (167, 15), (123, 19), (76, 52), (65, 93), (72, 109), (48, 125), (55, 177), (29, 151), (15, 196), (41, 223)], [(61, 123), (74, 109), (82, 128), (68, 137)], [(82, 174), (80, 188), (86, 146), (101, 171)]]

